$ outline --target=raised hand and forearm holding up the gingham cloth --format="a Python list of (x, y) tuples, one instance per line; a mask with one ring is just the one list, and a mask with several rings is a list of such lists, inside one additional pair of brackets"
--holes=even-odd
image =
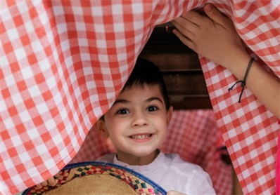
[[(177, 28), (173, 30), (174, 34), (193, 51), (226, 67), (242, 80), (250, 56), (233, 23), (212, 4), (206, 4), (204, 12), (208, 16), (189, 11), (173, 20), (172, 24)], [(256, 61), (250, 68), (246, 87), (280, 119), (280, 83)]]

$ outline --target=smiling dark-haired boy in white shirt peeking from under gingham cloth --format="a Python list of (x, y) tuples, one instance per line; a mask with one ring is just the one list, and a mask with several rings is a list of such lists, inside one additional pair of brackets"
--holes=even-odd
[(166, 191), (215, 194), (208, 173), (201, 167), (158, 149), (165, 141), (172, 112), (160, 70), (139, 58), (117, 100), (96, 123), (98, 132), (112, 140), (116, 154), (96, 161), (136, 170)]

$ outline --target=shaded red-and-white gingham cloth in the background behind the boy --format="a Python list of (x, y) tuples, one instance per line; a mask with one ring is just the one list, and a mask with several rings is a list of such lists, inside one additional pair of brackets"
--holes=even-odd
[[(221, 136), (212, 110), (176, 110), (170, 121), (167, 139), (160, 149), (177, 153), (185, 161), (198, 164), (209, 173), (217, 194), (231, 194), (232, 167), (221, 159), (220, 148), (224, 147)], [(113, 144), (101, 138), (92, 128), (70, 163), (93, 161), (109, 152), (115, 152)]]

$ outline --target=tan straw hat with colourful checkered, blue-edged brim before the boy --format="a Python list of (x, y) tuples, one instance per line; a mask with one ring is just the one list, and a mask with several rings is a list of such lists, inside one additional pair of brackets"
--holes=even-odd
[(158, 184), (113, 163), (73, 163), (61, 170), (56, 186), (31, 187), (23, 194), (166, 194)]

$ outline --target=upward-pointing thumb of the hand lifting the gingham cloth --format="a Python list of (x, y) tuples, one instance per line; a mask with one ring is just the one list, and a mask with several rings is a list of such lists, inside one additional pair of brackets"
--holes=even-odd
[(219, 10), (212, 4), (205, 4), (204, 11), (209, 18), (211, 18), (214, 22), (218, 23), (222, 27), (227, 28), (227, 26), (229, 25), (229, 18), (220, 13)]

